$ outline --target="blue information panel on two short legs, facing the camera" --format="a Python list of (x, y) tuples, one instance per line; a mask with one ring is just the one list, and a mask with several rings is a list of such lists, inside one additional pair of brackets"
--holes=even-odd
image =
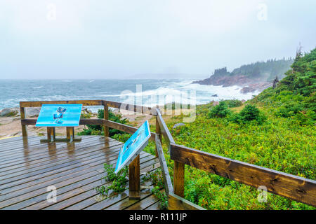
[(37, 127), (74, 127), (79, 125), (82, 104), (43, 104)]

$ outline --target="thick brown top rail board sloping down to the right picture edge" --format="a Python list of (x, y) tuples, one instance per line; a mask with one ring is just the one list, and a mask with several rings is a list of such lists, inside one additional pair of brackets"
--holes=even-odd
[[(183, 165), (203, 169), (255, 188), (265, 186), (270, 193), (316, 207), (316, 181), (177, 144), (171, 144), (170, 157)], [(181, 183), (177, 181), (174, 182), (175, 193), (176, 185), (183, 186), (184, 179), (180, 180)]]

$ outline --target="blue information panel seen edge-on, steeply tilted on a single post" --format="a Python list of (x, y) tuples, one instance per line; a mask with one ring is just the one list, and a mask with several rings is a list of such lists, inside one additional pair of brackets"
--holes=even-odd
[(150, 139), (150, 127), (146, 120), (121, 147), (119, 158), (117, 159), (117, 166), (115, 167), (115, 174), (126, 165), (129, 165), (136, 156), (143, 151), (148, 144), (148, 139)]

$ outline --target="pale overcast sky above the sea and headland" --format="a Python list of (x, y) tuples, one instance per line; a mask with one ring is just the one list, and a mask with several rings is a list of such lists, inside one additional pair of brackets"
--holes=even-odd
[(315, 12), (315, 0), (1, 0), (0, 78), (209, 76), (312, 50)]

